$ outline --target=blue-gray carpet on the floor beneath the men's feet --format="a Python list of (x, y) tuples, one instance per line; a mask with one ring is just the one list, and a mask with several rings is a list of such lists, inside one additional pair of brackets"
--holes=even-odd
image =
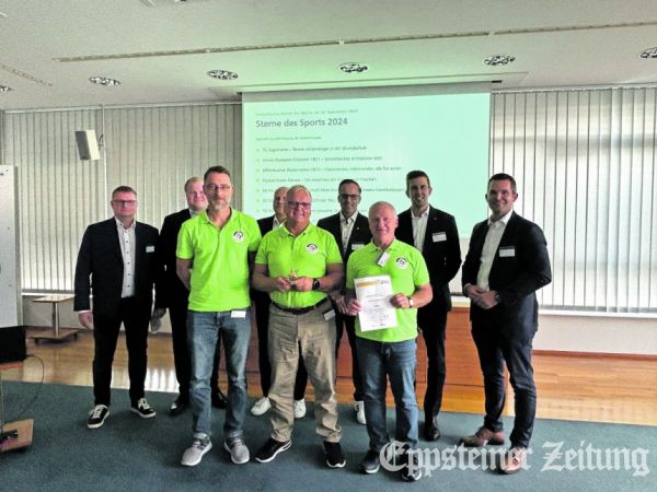
[[(18, 413), (34, 403), (24, 415)], [(480, 415), (445, 413), (440, 419), (442, 438), (427, 444), (425, 455), (437, 467), (419, 482), (402, 482), (396, 472), (381, 469), (365, 476), (358, 462), (367, 450), (367, 432), (357, 424), (350, 408), (341, 408), (343, 448), (347, 465), (328, 469), (324, 465), (321, 441), (314, 434), (312, 405), (309, 415), (297, 421), (292, 447), (273, 462), (235, 466), (222, 449), (222, 411), (214, 410), (214, 445), (195, 468), (180, 466), (183, 450), (191, 440), (191, 413), (171, 418), (166, 413), (173, 395), (149, 393), (149, 401), (159, 410), (155, 419), (142, 420), (129, 412), (128, 395), (114, 390), (111, 415), (95, 431), (85, 426), (92, 401), (91, 388), (4, 383), (4, 408), (8, 421), (34, 419), (33, 445), (20, 452), (0, 455), (2, 491), (292, 491), (292, 490), (550, 490), (550, 491), (648, 491), (655, 489), (657, 472), (657, 429), (639, 425), (596, 424), (538, 420), (532, 440), (533, 454), (528, 470), (516, 476), (499, 476), (482, 466), (481, 458), (459, 455), (454, 445), (459, 436), (474, 431)], [(393, 432), (394, 412), (389, 411)], [(508, 420), (510, 427), (511, 421)], [(268, 437), (266, 417), (247, 415), (245, 438), (252, 455)], [(563, 443), (561, 448), (558, 444)], [(590, 446), (589, 446), (590, 445)], [(592, 461), (587, 461), (588, 455)], [(622, 450), (622, 449), (625, 450)], [(489, 448), (491, 452), (499, 447)], [(602, 461), (596, 464), (596, 449)], [(604, 450), (619, 454), (606, 459)], [(642, 450), (643, 449), (643, 450)], [(561, 456), (556, 453), (561, 452)], [(486, 455), (489, 458), (493, 453)], [(552, 462), (549, 462), (554, 457)], [(623, 459), (626, 457), (627, 459)], [(583, 459), (581, 464), (579, 460)], [(620, 469), (614, 467), (620, 465)], [(591, 464), (587, 469), (587, 465)], [(602, 469), (604, 466), (612, 469)], [(625, 466), (627, 465), (627, 469)], [(562, 468), (561, 470), (558, 468)]]

